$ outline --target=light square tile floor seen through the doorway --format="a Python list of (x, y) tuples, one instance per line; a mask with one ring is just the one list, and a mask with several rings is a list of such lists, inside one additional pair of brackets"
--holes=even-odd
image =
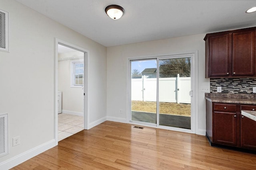
[(66, 113), (58, 114), (58, 141), (84, 130), (84, 117)]

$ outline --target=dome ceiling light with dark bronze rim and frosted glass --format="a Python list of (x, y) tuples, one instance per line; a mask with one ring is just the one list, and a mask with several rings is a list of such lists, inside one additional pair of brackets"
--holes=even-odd
[(124, 8), (119, 5), (109, 5), (105, 8), (105, 12), (113, 20), (118, 20), (124, 14)]

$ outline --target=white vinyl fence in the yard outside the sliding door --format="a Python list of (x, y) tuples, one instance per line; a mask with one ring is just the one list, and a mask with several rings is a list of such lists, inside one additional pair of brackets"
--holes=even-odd
[[(190, 104), (191, 78), (159, 78), (159, 102)], [(156, 78), (132, 78), (132, 100), (156, 102)]]

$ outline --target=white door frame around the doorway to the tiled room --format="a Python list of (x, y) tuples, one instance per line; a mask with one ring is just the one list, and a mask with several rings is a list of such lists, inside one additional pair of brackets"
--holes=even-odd
[(55, 38), (55, 55), (54, 55), (54, 139), (55, 145), (58, 145), (58, 44), (64, 45), (66, 47), (81, 51), (84, 53), (84, 129), (88, 129), (89, 116), (88, 116), (88, 93), (87, 93), (87, 78), (88, 78), (88, 58), (89, 51), (63, 41), (61, 39)]

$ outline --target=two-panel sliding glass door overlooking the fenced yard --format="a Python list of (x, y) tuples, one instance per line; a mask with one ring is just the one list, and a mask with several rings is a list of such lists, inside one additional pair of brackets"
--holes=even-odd
[(130, 60), (131, 121), (191, 129), (191, 56)]

